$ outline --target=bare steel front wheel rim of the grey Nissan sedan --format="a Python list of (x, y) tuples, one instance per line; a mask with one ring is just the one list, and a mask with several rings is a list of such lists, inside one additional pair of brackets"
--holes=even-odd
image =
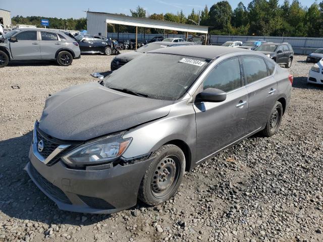
[(177, 184), (180, 173), (179, 158), (175, 155), (161, 159), (151, 178), (151, 192), (156, 198), (167, 196)]

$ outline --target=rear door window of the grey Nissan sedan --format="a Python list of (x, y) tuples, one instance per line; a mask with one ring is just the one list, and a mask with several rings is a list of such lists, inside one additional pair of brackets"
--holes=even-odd
[(248, 84), (268, 76), (267, 66), (261, 57), (243, 56), (242, 66)]

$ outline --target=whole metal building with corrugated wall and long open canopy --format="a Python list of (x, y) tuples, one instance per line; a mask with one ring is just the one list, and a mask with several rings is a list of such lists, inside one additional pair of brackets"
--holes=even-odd
[(86, 12), (87, 32), (88, 34), (107, 35), (107, 23), (122, 24), (135, 27), (168, 29), (182, 32), (203, 33), (207, 34), (207, 26), (198, 26), (191, 24), (179, 24), (169, 21), (161, 21), (146, 18), (135, 18), (119, 14), (109, 14), (102, 12)]

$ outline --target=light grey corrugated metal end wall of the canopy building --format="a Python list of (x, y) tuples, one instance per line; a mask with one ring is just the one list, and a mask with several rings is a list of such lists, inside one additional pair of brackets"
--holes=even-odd
[(86, 25), (88, 34), (101, 34), (106, 36), (106, 17), (99, 13), (86, 13)]

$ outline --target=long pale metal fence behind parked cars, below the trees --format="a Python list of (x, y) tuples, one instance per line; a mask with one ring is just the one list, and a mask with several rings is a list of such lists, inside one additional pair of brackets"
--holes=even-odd
[[(154, 36), (164, 36), (164, 34), (138, 34), (138, 41), (150, 40)], [(107, 33), (107, 37), (118, 39), (118, 33)], [(184, 34), (165, 34), (165, 38), (185, 38)], [(191, 35), (189, 35), (191, 37)], [(134, 33), (119, 33), (120, 40), (135, 39)], [(275, 36), (232, 36), (232, 35), (211, 35), (209, 43), (221, 45), (226, 41), (247, 41), (247, 40), (266, 40), (268, 42), (283, 43), (287, 42), (293, 46), (296, 54), (308, 54), (317, 48), (323, 48), (323, 38), (312, 37), (275, 37)]]

